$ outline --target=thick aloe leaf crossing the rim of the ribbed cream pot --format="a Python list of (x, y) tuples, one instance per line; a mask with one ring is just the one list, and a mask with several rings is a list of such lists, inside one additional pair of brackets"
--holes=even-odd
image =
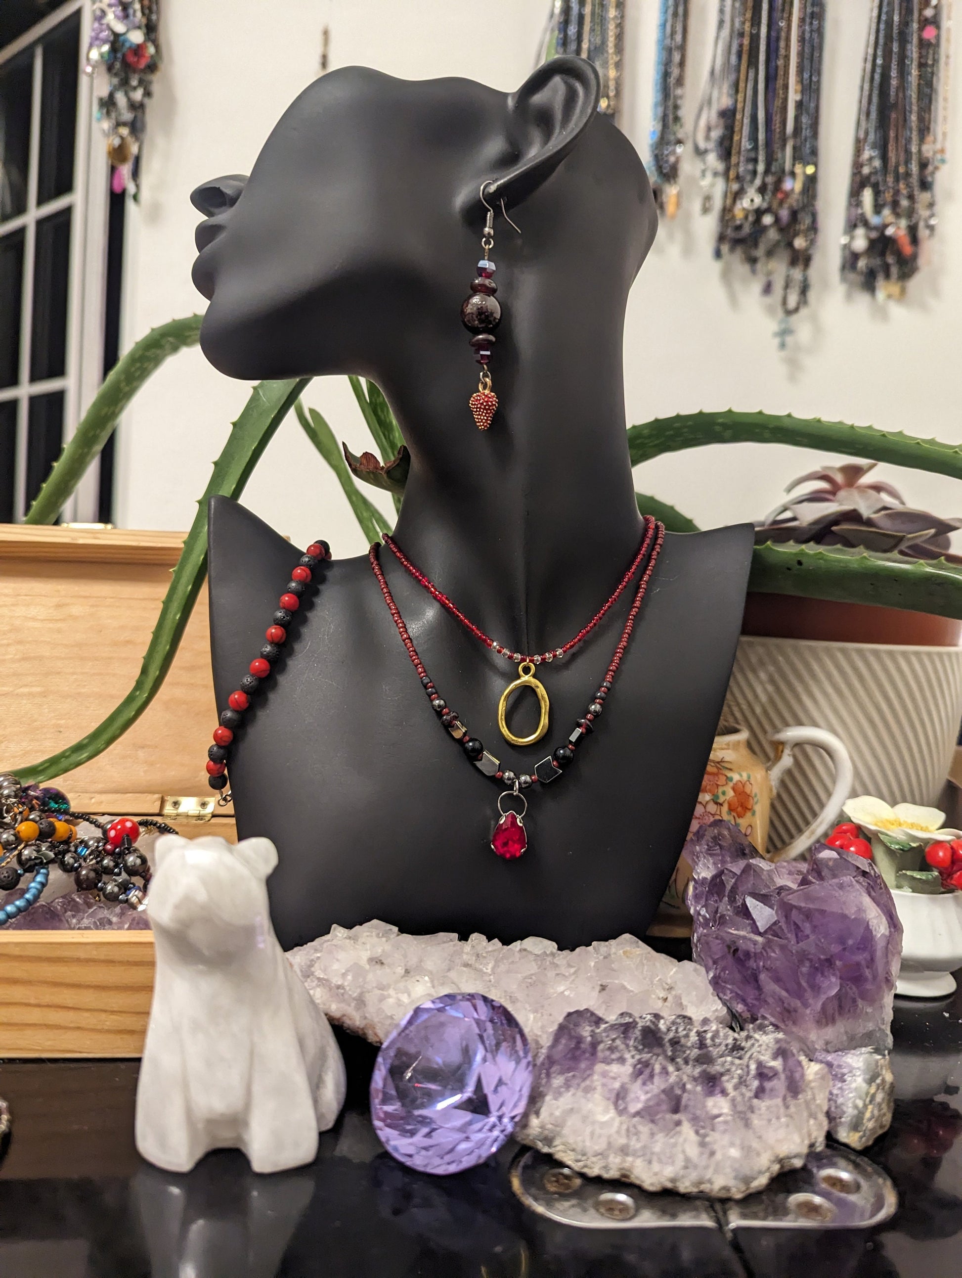
[(767, 542), (752, 553), (749, 589), (962, 620), (962, 566), (861, 547)]

